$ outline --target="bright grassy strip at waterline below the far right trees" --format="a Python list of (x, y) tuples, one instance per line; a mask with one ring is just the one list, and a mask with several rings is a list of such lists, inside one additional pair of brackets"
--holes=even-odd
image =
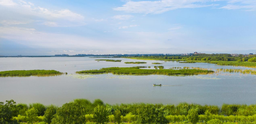
[(237, 61), (201, 61), (201, 60), (185, 60), (185, 59), (158, 59), (158, 58), (141, 58), (141, 57), (128, 57), (129, 59), (139, 59), (139, 60), (162, 60), (162, 61), (186, 61), (180, 63), (212, 63), (217, 65), (230, 65), (230, 66), (244, 66), (256, 68), (256, 62), (237, 62)]

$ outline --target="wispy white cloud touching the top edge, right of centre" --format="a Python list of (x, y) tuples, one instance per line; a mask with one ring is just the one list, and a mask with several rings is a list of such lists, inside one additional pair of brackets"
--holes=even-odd
[(129, 13), (160, 14), (170, 10), (181, 8), (199, 8), (212, 6), (205, 4), (210, 0), (160, 0), (160, 1), (128, 1), (122, 7), (115, 7), (113, 10)]

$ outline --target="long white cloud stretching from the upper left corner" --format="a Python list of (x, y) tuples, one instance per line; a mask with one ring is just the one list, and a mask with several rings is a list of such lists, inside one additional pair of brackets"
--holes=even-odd
[[(5, 6), (6, 11), (12, 11), (18, 15), (26, 15), (31, 18), (39, 17), (42, 24), (51, 27), (70, 27), (70, 26), (83, 26), (84, 16), (74, 13), (68, 9), (51, 10), (44, 7), (35, 6), (31, 2), (19, 0), (14, 2), (12, 0), (0, 0), (0, 6)], [(12, 16), (12, 15), (5, 15)], [(3, 17), (5, 18), (5, 17)], [(20, 20), (19, 17), (12, 16), (13, 20)], [(38, 18), (37, 18), (38, 19)]]

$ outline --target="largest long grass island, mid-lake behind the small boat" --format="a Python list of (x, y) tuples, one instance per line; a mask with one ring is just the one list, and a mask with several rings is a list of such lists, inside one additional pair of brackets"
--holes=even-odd
[(140, 67), (109, 67), (99, 70), (85, 70), (76, 72), (77, 74), (124, 74), (124, 75), (199, 75), (212, 74), (214, 71), (198, 69), (140, 69)]

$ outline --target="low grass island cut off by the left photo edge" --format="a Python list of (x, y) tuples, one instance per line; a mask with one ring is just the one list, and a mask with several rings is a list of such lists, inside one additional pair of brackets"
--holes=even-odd
[(0, 77), (57, 76), (62, 74), (64, 73), (55, 70), (15, 70), (0, 72)]

